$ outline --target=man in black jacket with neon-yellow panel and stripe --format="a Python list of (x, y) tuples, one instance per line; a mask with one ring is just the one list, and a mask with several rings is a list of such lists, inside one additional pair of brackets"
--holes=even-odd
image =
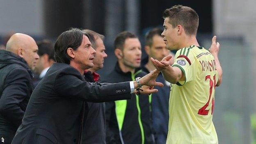
[[(130, 32), (121, 32), (114, 40), (118, 62), (104, 82), (117, 83), (135, 80), (146, 75), (140, 69), (141, 44)], [(108, 144), (153, 144), (149, 96), (133, 94), (130, 100), (106, 103)]]

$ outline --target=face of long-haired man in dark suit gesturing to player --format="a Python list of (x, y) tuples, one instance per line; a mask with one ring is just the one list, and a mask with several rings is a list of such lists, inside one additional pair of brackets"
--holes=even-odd
[(74, 58), (73, 61), (79, 66), (80, 69), (89, 69), (94, 66), (94, 54), (96, 51), (91, 47), (91, 42), (88, 37), (83, 35), (81, 45), (73, 50)]

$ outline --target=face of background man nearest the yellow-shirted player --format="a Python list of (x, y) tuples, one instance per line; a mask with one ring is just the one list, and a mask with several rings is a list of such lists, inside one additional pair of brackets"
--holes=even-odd
[(153, 57), (158, 61), (161, 61), (164, 57), (169, 55), (169, 50), (166, 48), (165, 41), (163, 41), (163, 37), (159, 35), (153, 36), (153, 43), (149, 48), (149, 57)]

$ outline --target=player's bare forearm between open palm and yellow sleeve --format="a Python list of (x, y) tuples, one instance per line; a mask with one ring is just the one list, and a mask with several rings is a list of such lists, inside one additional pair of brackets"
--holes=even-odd
[(182, 71), (178, 67), (168, 66), (167, 69), (162, 71), (162, 74), (168, 82), (176, 84), (182, 77)]

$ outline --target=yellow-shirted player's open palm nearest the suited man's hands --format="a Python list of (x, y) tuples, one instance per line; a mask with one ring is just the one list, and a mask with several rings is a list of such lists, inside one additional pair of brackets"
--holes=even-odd
[(164, 57), (160, 62), (157, 59), (153, 59), (151, 57), (151, 62), (154, 64), (155, 68), (159, 71), (163, 71), (167, 69), (169, 66), (171, 66), (171, 57), (172, 55), (168, 55)]

